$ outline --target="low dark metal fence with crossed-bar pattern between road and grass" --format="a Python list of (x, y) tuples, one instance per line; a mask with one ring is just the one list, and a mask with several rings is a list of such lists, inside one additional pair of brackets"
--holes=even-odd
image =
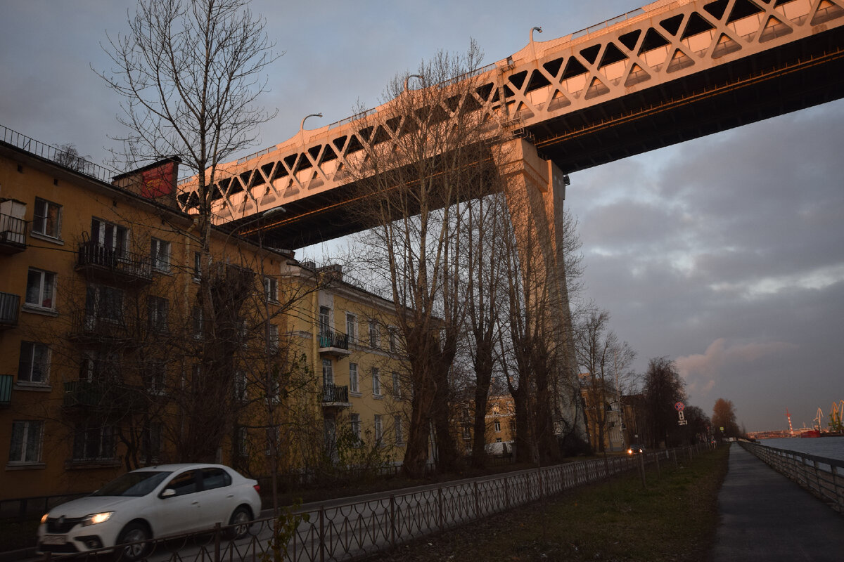
[[(398, 490), (371, 500), (348, 503), (326, 502), (315, 509), (297, 512), (295, 531), (288, 543), (287, 560), (326, 562), (364, 558), (415, 538), (425, 537), (560, 495), (584, 484), (614, 474), (638, 469), (642, 479), (646, 467), (659, 471), (661, 463), (693, 458), (708, 450), (706, 445), (647, 452), (635, 457), (595, 459), (472, 479), (441, 485)], [(246, 536), (225, 539), (225, 527), (204, 534), (160, 539), (148, 544), (151, 561), (219, 562), (272, 558), (269, 542), (273, 519), (252, 524)], [(88, 559), (95, 559), (91, 551)], [(116, 559), (120, 559), (120, 554)]]

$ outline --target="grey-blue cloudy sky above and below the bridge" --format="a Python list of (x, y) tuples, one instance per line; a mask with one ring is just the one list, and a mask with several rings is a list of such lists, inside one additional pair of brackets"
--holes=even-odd
[[(97, 163), (119, 99), (90, 67), (126, 29), (130, 0), (0, 0), (0, 125), (73, 143)], [(395, 74), (470, 38), (495, 62), (639, 8), (639, 0), (254, 0), (284, 56), (262, 100), (279, 115), (258, 147), (304, 115), (325, 125), (367, 107)], [(586, 297), (612, 314), (644, 371), (676, 361), (690, 404), (733, 401), (747, 430), (812, 424), (844, 399), (844, 102), (571, 174)], [(320, 249), (311, 250), (319, 252)], [(315, 257), (320, 258), (320, 255)]]

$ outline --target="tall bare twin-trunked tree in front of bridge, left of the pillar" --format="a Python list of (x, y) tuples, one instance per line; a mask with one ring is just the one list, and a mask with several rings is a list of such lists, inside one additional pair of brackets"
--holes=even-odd
[(392, 101), (365, 127), (351, 170), (365, 201), (355, 211), (374, 225), (365, 238), (368, 265), (394, 302), (408, 358), (413, 398), (403, 467), (413, 476), (425, 469), (432, 426), (438, 469), (457, 462), (449, 370), (466, 307), (460, 233), (489, 161), (477, 84), (466, 75), (480, 58), (474, 44), (464, 56), (441, 52), (420, 65), (418, 89), (405, 88), (409, 77), (395, 78), (385, 96)]

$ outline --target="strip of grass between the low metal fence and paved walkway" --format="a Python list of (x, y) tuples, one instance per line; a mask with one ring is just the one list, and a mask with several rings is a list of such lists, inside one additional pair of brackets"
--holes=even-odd
[(706, 560), (718, 522), (728, 447), (572, 490), (465, 527), (408, 543), (368, 561)]

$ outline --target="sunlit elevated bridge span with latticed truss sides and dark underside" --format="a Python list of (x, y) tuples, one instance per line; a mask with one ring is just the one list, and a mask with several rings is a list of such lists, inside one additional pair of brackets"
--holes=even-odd
[[(841, 98), (844, 0), (662, 0), (555, 40), (531, 31), (472, 74), (490, 138), (521, 137), (574, 172)], [(216, 221), (256, 222), (286, 248), (360, 230), (344, 212), (347, 170), (362, 147), (400, 134), (389, 103), (223, 165)], [(181, 185), (183, 205), (196, 189)], [(287, 212), (255, 221), (279, 205)]]

